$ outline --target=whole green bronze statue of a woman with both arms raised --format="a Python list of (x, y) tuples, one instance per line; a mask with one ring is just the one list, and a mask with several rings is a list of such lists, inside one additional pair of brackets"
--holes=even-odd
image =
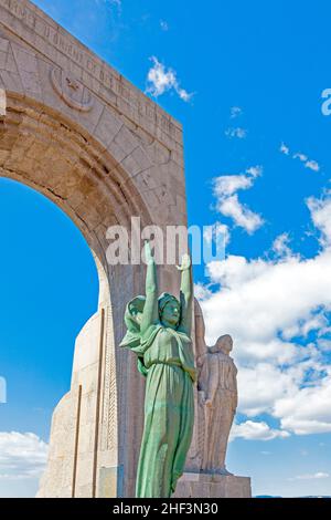
[(168, 293), (158, 298), (157, 267), (149, 242), (145, 256), (146, 297), (128, 303), (128, 332), (120, 346), (138, 355), (138, 368), (147, 378), (136, 497), (168, 498), (183, 472), (194, 423), (191, 259), (184, 254), (178, 267), (182, 273), (179, 301)]

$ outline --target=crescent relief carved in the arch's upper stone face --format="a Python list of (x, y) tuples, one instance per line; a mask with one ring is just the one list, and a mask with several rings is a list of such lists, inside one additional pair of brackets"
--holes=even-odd
[(62, 100), (79, 112), (89, 112), (94, 105), (94, 98), (89, 91), (71, 74), (58, 69), (52, 69), (51, 83)]

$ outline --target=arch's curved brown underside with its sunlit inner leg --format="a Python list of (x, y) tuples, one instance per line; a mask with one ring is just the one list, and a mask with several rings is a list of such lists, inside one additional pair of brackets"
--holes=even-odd
[[(8, 95), (0, 128), (0, 176), (51, 199), (83, 233), (97, 266), (98, 311), (77, 336), (71, 391), (53, 414), (39, 496), (132, 496), (142, 430), (143, 383), (116, 345), (126, 302), (141, 292), (140, 266), (108, 266), (106, 230), (142, 226), (149, 212), (128, 174), (86, 133), (28, 97)], [(124, 479), (126, 475), (126, 479)]]

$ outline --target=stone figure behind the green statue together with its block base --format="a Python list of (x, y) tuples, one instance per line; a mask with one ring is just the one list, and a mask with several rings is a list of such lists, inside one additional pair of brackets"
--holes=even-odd
[(195, 358), (199, 368), (195, 388), (195, 423), (186, 459), (186, 472), (179, 480), (175, 498), (249, 498), (250, 478), (236, 477), (225, 466), (229, 430), (237, 407), (237, 368), (228, 355), (232, 337), (205, 343), (205, 324), (195, 300)]

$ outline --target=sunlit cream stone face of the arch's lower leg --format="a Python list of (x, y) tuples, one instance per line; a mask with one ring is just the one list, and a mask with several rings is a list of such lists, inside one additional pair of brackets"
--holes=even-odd
[[(102, 438), (100, 417), (97, 417), (105, 405), (100, 403), (104, 392), (98, 391), (98, 384), (103, 385), (99, 355), (106, 344), (105, 325), (109, 319), (109, 306), (104, 302), (76, 339), (71, 391), (53, 415), (49, 464), (38, 497), (90, 498), (120, 493), (114, 470), (117, 469), (115, 429), (108, 423), (107, 438)], [(115, 416), (116, 407), (111, 410), (113, 424)]]

